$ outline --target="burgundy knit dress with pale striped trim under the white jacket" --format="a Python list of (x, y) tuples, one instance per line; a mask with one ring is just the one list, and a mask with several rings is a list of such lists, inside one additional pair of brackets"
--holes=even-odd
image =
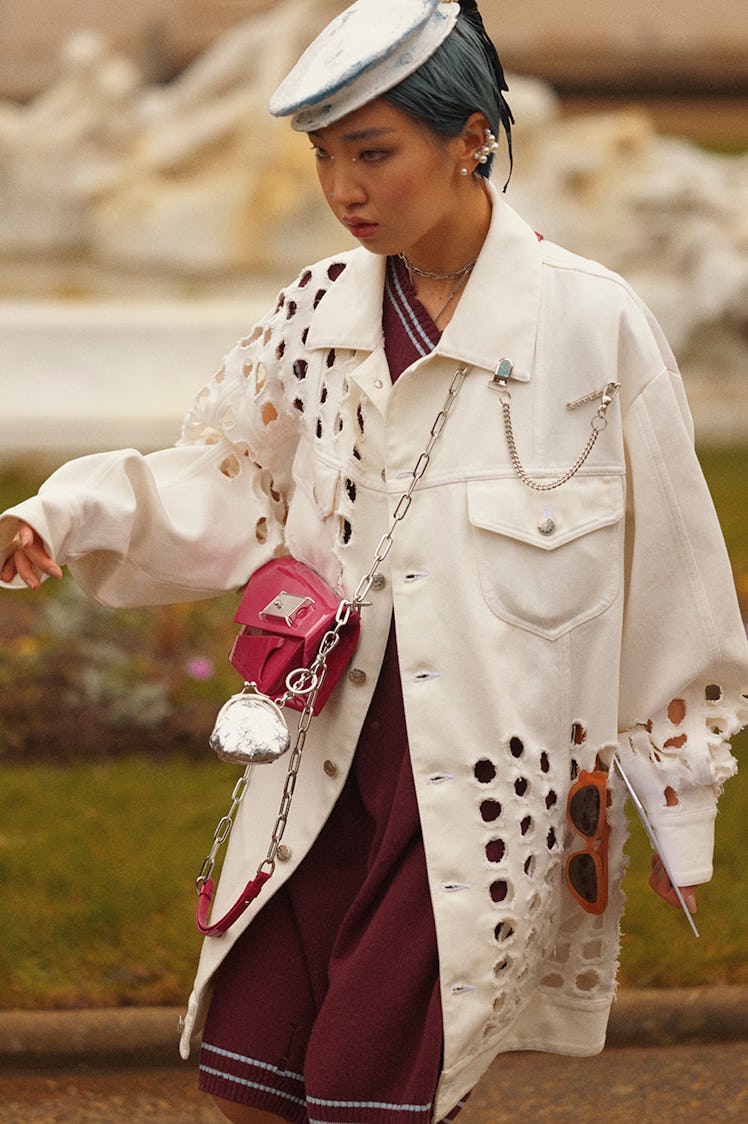
[[(397, 259), (382, 326), (393, 381), (440, 338)], [(441, 1063), (436, 937), (393, 624), (327, 823), (216, 973), (199, 1081), (295, 1124), (429, 1124)]]

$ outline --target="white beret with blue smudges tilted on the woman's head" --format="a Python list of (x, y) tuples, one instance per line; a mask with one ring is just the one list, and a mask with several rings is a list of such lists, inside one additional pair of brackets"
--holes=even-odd
[(444, 42), (460, 13), (450, 0), (357, 0), (307, 47), (269, 109), (300, 133), (322, 129), (381, 97)]

